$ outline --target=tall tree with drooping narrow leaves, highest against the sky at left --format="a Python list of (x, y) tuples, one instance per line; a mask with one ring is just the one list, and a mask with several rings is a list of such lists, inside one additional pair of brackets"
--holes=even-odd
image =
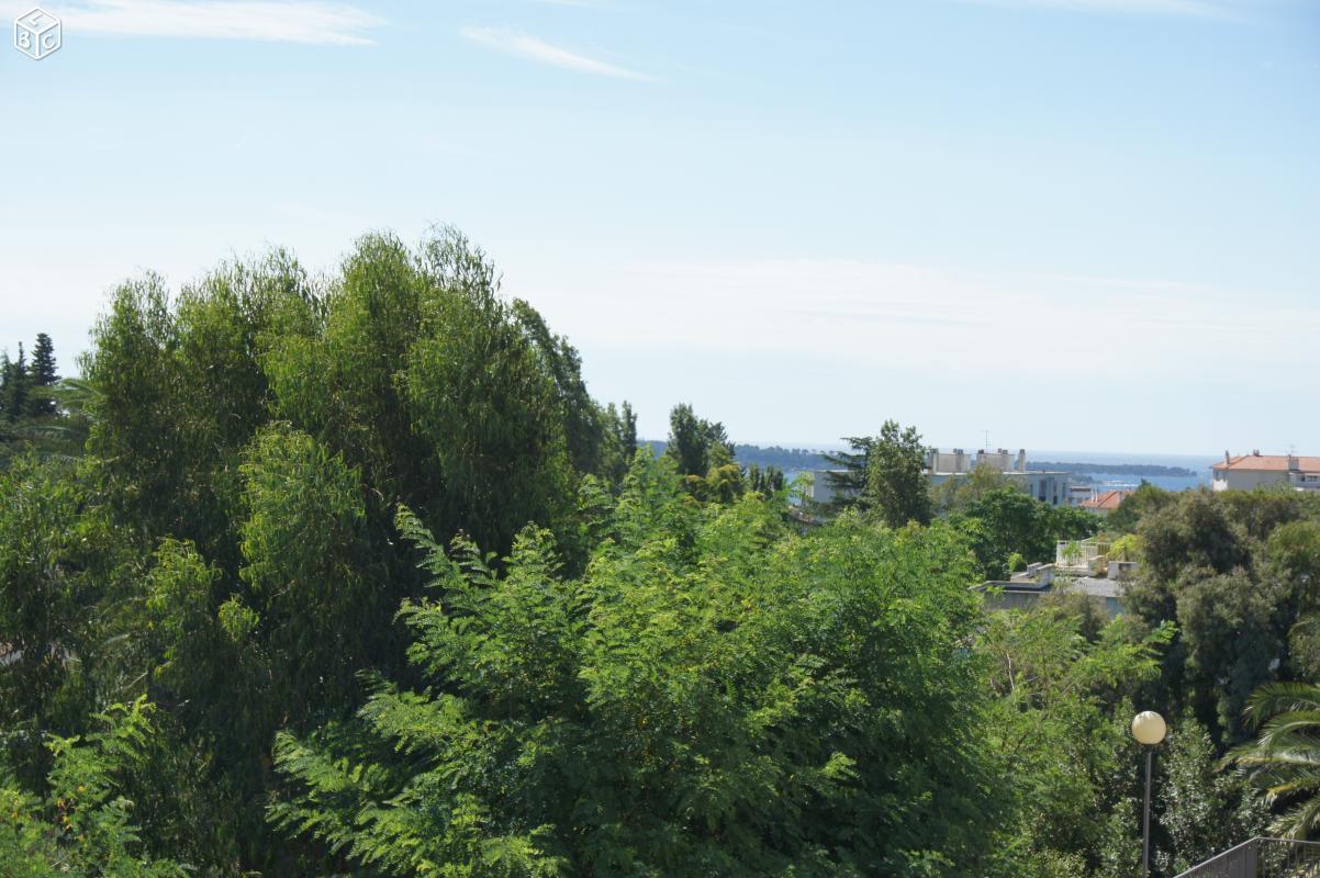
[(359, 671), (407, 674), (393, 618), (425, 577), (396, 505), (502, 555), (532, 522), (578, 571), (612, 497), (574, 459), (605, 472), (635, 443), (631, 409), (609, 422), (576, 352), (451, 229), (364, 236), (323, 282), (273, 252), (178, 291), (125, 283), (83, 365), (77, 526), (124, 556), (86, 577), (114, 589), (74, 605), (98, 635), (75, 667), (88, 697), (160, 705), (144, 834), (220, 874), (306, 871), (264, 821), (275, 730), (351, 715)]

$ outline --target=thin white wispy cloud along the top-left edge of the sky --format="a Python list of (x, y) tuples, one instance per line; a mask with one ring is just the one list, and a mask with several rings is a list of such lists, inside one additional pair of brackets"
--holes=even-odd
[(348, 46), (375, 42), (367, 32), (384, 24), (356, 7), (317, 0), (83, 0), (45, 5), (63, 18), (70, 34)]

